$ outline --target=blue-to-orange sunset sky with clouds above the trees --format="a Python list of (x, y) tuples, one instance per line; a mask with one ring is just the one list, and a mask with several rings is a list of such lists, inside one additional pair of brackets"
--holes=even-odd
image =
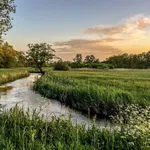
[(15, 0), (13, 28), (4, 37), (16, 50), (46, 42), (63, 60), (77, 53), (100, 60), (150, 50), (150, 0)]

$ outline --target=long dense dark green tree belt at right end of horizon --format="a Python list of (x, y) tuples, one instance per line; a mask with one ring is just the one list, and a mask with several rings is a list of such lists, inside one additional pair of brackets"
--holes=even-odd
[(109, 57), (106, 63), (116, 68), (150, 68), (150, 51), (141, 54), (122, 54)]

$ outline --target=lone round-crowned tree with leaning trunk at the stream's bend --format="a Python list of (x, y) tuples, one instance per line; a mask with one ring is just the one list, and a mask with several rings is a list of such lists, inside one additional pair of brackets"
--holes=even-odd
[(42, 74), (44, 74), (42, 67), (54, 57), (53, 52), (55, 52), (55, 50), (53, 50), (51, 46), (46, 43), (28, 44), (28, 47), (28, 61), (38, 68)]

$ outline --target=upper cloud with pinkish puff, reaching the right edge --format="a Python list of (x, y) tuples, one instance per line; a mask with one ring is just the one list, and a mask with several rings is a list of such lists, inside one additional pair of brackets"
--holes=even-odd
[(97, 25), (90, 27), (84, 33), (105, 36), (134, 34), (145, 30), (148, 26), (150, 26), (150, 16), (139, 14), (123, 20), (123, 23), (118, 25)]

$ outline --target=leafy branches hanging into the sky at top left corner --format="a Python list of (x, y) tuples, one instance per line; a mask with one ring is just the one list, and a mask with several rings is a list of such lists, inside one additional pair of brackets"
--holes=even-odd
[(0, 0), (0, 41), (2, 41), (2, 35), (12, 28), (10, 14), (15, 11), (14, 0)]

